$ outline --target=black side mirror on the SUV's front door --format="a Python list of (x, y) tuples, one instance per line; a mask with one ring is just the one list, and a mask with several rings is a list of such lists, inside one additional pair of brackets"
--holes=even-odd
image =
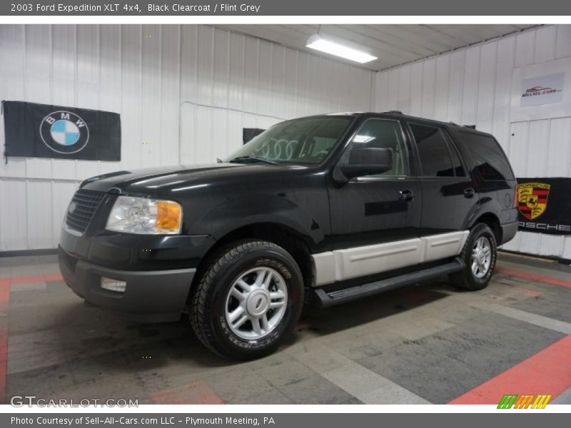
[(393, 149), (362, 147), (353, 148), (349, 162), (339, 166), (347, 178), (385, 173), (393, 168)]

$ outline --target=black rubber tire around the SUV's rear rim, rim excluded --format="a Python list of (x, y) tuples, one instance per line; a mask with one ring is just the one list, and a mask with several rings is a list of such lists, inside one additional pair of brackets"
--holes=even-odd
[[(485, 271), (482, 277), (477, 277), (473, 272), (473, 249), (477, 241), (483, 238), (487, 240), (490, 244), (490, 265)], [(490, 278), (494, 272), (495, 261), (497, 257), (497, 245), (495, 240), (495, 235), (490, 229), (490, 227), (484, 223), (478, 223), (472, 230), (470, 230), (470, 235), (464, 244), (462, 253), (460, 253), (460, 258), (464, 260), (466, 266), (463, 270), (457, 273), (450, 274), (450, 281), (462, 290), (483, 290), (490, 283)]]

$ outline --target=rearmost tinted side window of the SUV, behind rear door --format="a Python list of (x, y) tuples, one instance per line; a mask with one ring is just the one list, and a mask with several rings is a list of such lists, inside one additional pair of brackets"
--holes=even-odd
[(460, 138), (470, 152), (475, 169), (484, 180), (514, 179), (510, 163), (494, 138), (468, 132), (460, 132)]

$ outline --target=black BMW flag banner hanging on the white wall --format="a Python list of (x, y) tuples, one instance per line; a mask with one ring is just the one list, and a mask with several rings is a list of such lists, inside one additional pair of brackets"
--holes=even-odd
[(4, 156), (121, 161), (121, 116), (24, 101), (2, 101)]

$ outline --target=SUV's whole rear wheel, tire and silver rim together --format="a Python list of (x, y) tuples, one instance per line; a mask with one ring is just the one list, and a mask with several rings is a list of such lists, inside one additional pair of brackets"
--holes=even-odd
[(495, 235), (480, 223), (470, 231), (460, 258), (466, 264), (463, 270), (450, 275), (453, 284), (463, 290), (482, 290), (490, 283), (497, 255)]

